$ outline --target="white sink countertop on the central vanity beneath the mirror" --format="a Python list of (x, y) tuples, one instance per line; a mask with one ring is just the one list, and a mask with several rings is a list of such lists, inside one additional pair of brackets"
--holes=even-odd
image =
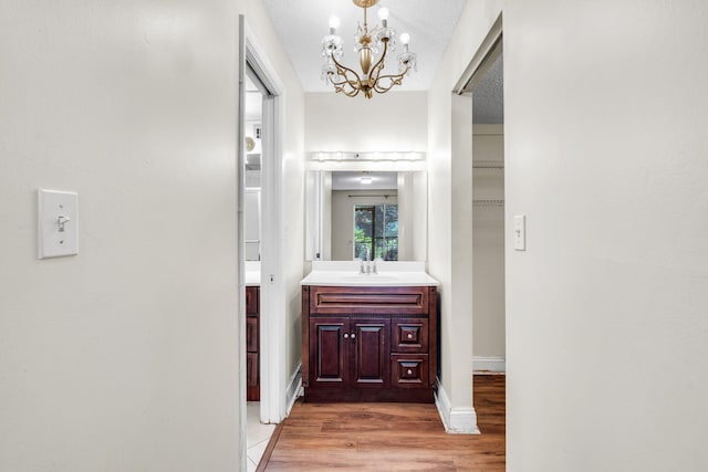
[[(369, 264), (372, 264), (369, 262)], [(425, 272), (425, 262), (376, 263), (377, 273), (362, 274), (356, 261), (313, 261), (301, 285), (326, 286), (428, 286), (440, 283)]]

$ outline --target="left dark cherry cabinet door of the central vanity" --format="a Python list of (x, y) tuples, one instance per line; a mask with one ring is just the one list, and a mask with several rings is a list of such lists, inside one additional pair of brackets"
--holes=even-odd
[(310, 385), (344, 387), (348, 382), (350, 319), (310, 318)]

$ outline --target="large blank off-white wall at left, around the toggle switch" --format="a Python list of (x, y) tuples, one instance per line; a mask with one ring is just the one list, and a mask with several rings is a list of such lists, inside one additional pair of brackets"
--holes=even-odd
[(237, 470), (238, 8), (0, 4), (0, 470)]

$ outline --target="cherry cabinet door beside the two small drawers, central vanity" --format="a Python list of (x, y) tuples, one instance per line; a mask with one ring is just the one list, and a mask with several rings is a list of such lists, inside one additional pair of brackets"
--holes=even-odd
[(388, 319), (352, 319), (350, 340), (353, 386), (382, 388), (388, 386)]

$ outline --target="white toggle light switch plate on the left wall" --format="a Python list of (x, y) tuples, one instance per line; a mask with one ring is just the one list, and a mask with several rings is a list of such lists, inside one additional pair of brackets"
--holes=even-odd
[(39, 259), (79, 253), (79, 195), (38, 191)]

